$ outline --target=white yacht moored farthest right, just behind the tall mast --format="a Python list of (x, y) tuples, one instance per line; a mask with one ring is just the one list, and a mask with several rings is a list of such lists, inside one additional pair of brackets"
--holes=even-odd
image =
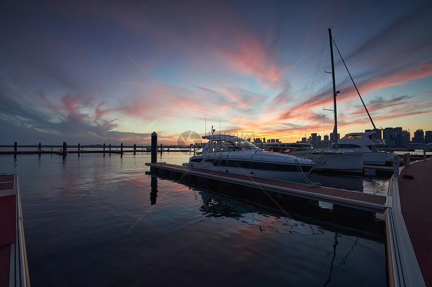
[[(382, 144), (372, 140), (374, 134), (375, 132), (346, 134), (342, 139), (338, 140), (337, 150), (352, 153), (361, 152), (364, 153), (364, 164), (384, 165), (388, 155), (386, 152), (376, 149), (377, 145)], [(334, 146), (333, 143), (331, 147)]]

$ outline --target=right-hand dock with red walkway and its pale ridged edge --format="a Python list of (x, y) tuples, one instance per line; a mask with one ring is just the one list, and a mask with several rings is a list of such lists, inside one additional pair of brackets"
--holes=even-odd
[(384, 212), (390, 286), (432, 286), (431, 204), (432, 160), (400, 167)]

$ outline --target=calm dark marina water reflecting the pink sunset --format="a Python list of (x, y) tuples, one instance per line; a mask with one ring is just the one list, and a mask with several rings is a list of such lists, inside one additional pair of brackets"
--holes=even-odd
[[(0, 155), (0, 173), (20, 174), (33, 286), (386, 285), (381, 236), (157, 178), (149, 161)], [(382, 178), (314, 176), (387, 190)]]

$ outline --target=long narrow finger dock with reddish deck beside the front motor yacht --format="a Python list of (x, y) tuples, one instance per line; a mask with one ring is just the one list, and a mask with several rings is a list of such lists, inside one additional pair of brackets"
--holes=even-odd
[[(371, 212), (384, 212), (385, 196), (367, 194), (357, 191), (336, 189), (330, 187), (310, 187), (308, 184), (289, 182), (247, 175), (233, 174), (222, 171), (189, 168), (167, 163), (146, 163), (152, 172), (173, 179), (182, 179), (185, 182), (199, 185), (203, 188), (218, 187), (223, 190), (229, 188), (224, 183), (235, 184), (236, 187), (247, 186), (271, 192), (275, 200), (282, 199), (284, 195), (306, 198), (314, 201), (325, 201), (338, 206), (360, 209)], [(340, 206), (340, 207), (339, 207)], [(349, 213), (355, 215), (356, 212)]]

